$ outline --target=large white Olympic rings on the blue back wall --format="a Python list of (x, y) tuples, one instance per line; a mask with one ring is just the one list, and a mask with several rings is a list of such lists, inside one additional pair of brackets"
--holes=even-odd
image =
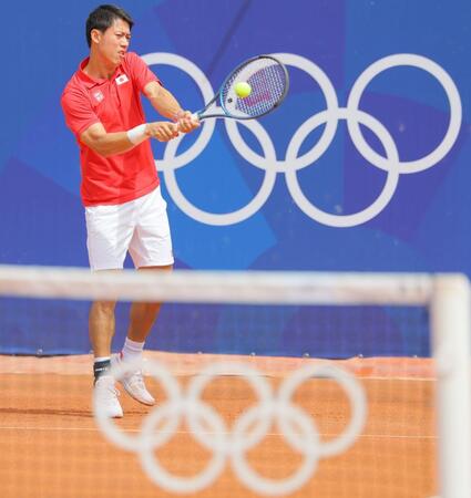
[[(391, 200), (399, 181), (399, 175), (422, 172), (437, 165), (453, 147), (461, 127), (462, 107), (458, 89), (450, 75), (436, 62), (417, 54), (395, 54), (378, 60), (365, 70), (355, 82), (348, 97), (346, 107), (339, 107), (335, 87), (324, 71), (306, 58), (293, 53), (274, 54), (286, 65), (305, 71), (320, 86), (327, 108), (309, 117), (303, 123), (291, 137), (285, 159), (279, 159), (275, 145), (264, 126), (257, 121), (235, 122), (225, 121), (225, 127), (234, 144), (235, 149), (252, 165), (264, 170), (264, 179), (258, 193), (243, 208), (226, 214), (207, 212), (194, 206), (184, 196), (176, 181), (175, 170), (187, 165), (197, 157), (207, 146), (216, 124), (215, 120), (204, 122), (203, 129), (195, 143), (184, 153), (177, 155), (178, 145), (183, 138), (178, 137), (165, 147), (162, 160), (156, 160), (156, 166), (163, 173), (168, 194), (178, 208), (191, 218), (207, 225), (234, 225), (246, 220), (257, 212), (268, 199), (278, 173), (286, 176), (288, 190), (298, 207), (311, 219), (330, 227), (354, 227), (375, 218)], [(167, 64), (186, 72), (199, 86), (203, 101), (208, 102), (214, 90), (206, 75), (193, 62), (172, 53), (149, 53), (143, 55), (149, 65)], [(361, 96), (368, 84), (381, 72), (397, 66), (412, 66), (428, 72), (442, 85), (450, 106), (450, 122), (442, 142), (423, 157), (405, 162), (400, 160), (400, 154), (388, 129), (373, 116), (359, 108)], [(327, 151), (336, 135), (339, 120), (347, 122), (347, 127), (354, 145), (371, 165), (383, 169), (387, 178), (382, 190), (367, 208), (349, 214), (338, 215), (326, 212), (316, 207), (303, 193), (297, 172), (313, 165)], [(317, 144), (308, 152), (299, 156), (299, 151), (306, 137), (318, 126), (326, 125)], [(244, 141), (238, 126), (246, 126), (257, 138), (263, 149), (263, 155), (252, 149)], [(369, 128), (381, 142), (386, 157), (373, 151), (366, 142), (360, 125)]]

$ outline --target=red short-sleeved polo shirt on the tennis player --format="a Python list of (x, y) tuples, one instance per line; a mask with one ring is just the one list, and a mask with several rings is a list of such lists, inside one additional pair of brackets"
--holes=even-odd
[(115, 156), (93, 152), (80, 135), (94, 123), (106, 132), (124, 132), (145, 123), (140, 93), (157, 76), (135, 53), (126, 53), (112, 77), (94, 80), (83, 69), (85, 59), (66, 84), (61, 98), (66, 125), (80, 147), (81, 196), (85, 206), (123, 204), (158, 186), (150, 141)]

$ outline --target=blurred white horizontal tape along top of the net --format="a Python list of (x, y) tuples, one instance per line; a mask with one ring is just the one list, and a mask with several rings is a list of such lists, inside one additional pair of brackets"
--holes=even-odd
[(433, 279), (420, 273), (265, 271), (96, 272), (0, 266), (0, 295), (125, 301), (267, 304), (429, 302)]

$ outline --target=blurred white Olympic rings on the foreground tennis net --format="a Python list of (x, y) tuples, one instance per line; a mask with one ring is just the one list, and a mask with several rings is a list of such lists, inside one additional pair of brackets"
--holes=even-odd
[[(111, 373), (119, 380), (139, 366), (136, 363), (120, 363), (113, 365)], [(125, 450), (137, 453), (150, 479), (171, 492), (197, 492), (208, 487), (223, 471), (227, 459), (240, 481), (253, 491), (269, 496), (294, 492), (314, 475), (320, 458), (339, 455), (349, 448), (366, 423), (367, 403), (361, 385), (352, 375), (328, 363), (307, 365), (295, 371), (283, 382), (276, 394), (259, 372), (243, 363), (213, 364), (195, 376), (185, 392), (161, 364), (149, 362), (146, 371), (163, 386), (166, 400), (144, 418), (136, 436), (119, 430), (96, 403), (94, 414), (107, 439)], [(227, 373), (243, 377), (258, 397), (258, 403), (248, 407), (234, 422), (232, 430), (228, 430), (214, 407), (202, 401), (207, 384), (216, 376)], [(328, 442), (320, 440), (311, 417), (291, 403), (300, 384), (313, 377), (336, 381), (350, 403), (350, 422), (339, 436)], [(191, 477), (168, 473), (155, 455), (155, 450), (175, 435), (182, 421), (186, 422), (192, 436), (213, 454), (206, 467)], [(274, 423), (287, 444), (304, 455), (298, 470), (285, 479), (260, 476), (245, 456), (266, 437)]]

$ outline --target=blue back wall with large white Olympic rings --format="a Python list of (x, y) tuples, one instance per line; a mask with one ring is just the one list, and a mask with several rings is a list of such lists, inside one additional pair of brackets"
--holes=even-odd
[[(289, 9), (268, 0), (122, 6), (136, 21), (132, 50), (187, 108), (199, 108), (234, 65), (258, 53), (280, 54), (291, 76), (284, 105), (253, 132), (239, 126), (237, 137), (234, 124), (226, 128), (218, 121), (201, 152), (196, 147), (208, 129), (196, 143), (185, 137), (166, 149), (154, 144), (178, 268), (471, 276), (468, 0), (295, 0)], [(13, 49), (3, 53), (1, 79), (0, 262), (85, 267), (79, 154), (59, 98), (88, 54), (84, 20), (95, 3), (27, 7), (3, 7), (4, 39)], [(364, 76), (358, 106), (365, 114), (359, 115), (350, 92), (381, 60), (382, 70)], [(319, 122), (296, 146), (303, 124), (326, 110), (329, 124)], [(366, 142), (347, 127), (355, 117)], [(325, 144), (322, 151), (317, 144)], [(260, 199), (263, 185), (270, 188)], [(256, 206), (245, 212), (254, 198)], [(86, 310), (85, 303), (3, 300), (0, 352), (85, 352)], [(126, 307), (117, 312), (121, 336), (126, 312)], [(360, 326), (352, 331), (345, 310), (331, 341), (319, 339), (332, 334), (319, 325), (326, 312), (281, 310), (260, 332), (229, 325), (242, 311), (209, 307), (195, 313), (192, 307), (167, 305), (150, 346), (341, 356), (428, 353), (427, 317), (416, 310), (413, 332), (395, 310), (381, 310), (378, 330), (369, 333), (372, 312), (356, 317)]]

